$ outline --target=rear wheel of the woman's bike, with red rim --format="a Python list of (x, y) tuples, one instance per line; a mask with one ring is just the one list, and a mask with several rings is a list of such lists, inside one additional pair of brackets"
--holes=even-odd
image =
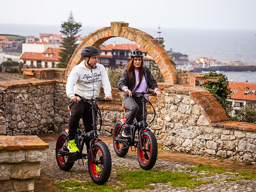
[(122, 126), (122, 122), (118, 121), (116, 124), (115, 124), (115, 129), (114, 129), (114, 134), (113, 134), (113, 145), (114, 145), (114, 149), (115, 149), (115, 152), (116, 152), (116, 155), (119, 156), (119, 157), (124, 157), (129, 148), (124, 148), (124, 143), (121, 142), (121, 141), (118, 141), (118, 139), (125, 139), (123, 136), (122, 136), (122, 132), (123, 132), (123, 129), (121, 128)]

